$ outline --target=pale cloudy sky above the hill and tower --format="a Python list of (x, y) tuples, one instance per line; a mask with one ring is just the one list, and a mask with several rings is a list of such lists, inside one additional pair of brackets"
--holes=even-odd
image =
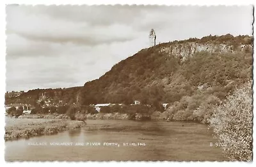
[(6, 91), (83, 86), (159, 42), (252, 35), (252, 6), (6, 7)]

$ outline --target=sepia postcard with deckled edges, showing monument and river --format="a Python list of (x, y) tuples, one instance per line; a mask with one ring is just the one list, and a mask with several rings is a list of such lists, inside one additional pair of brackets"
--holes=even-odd
[(5, 161), (253, 160), (253, 6), (5, 9)]

